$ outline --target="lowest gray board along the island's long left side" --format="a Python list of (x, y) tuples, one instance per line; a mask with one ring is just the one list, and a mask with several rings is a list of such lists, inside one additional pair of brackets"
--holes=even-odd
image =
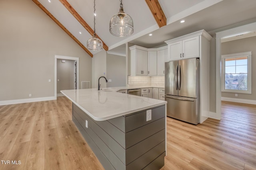
[(94, 141), (90, 138), (88, 133), (84, 130), (84, 128), (80, 125), (80, 123), (77, 121), (76, 117), (72, 116), (72, 121), (75, 123), (76, 127), (90, 146), (90, 148), (93, 150), (94, 154), (97, 156), (98, 160), (102, 164), (102, 166), (106, 170), (115, 170), (115, 168), (112, 166), (112, 164), (109, 162), (109, 160), (106, 158), (104, 154), (102, 154), (101, 150), (97, 147), (97, 145), (94, 143)]

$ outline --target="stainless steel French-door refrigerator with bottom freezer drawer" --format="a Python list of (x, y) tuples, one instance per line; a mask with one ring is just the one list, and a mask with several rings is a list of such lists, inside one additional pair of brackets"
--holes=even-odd
[(199, 123), (199, 59), (165, 63), (167, 116)]

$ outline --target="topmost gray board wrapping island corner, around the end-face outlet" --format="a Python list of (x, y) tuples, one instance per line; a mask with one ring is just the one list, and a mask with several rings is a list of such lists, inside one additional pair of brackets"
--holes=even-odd
[(116, 117), (108, 121), (126, 133), (165, 117), (165, 105), (151, 109), (152, 119), (150, 121), (146, 121), (146, 111), (147, 110), (143, 110), (130, 115)]

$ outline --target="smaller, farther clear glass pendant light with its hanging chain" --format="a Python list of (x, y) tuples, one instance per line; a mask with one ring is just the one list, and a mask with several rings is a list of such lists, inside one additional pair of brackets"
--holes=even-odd
[(92, 51), (101, 51), (103, 49), (103, 43), (100, 39), (96, 37), (95, 33), (95, 0), (94, 0), (94, 33), (92, 38), (88, 39), (87, 41), (87, 49)]

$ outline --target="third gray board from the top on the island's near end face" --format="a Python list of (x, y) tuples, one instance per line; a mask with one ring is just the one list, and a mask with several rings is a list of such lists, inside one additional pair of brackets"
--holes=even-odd
[[(126, 149), (126, 165), (143, 156), (144, 153), (150, 151), (163, 141), (165, 141), (165, 129)], [(164, 152), (165, 145), (161, 149)]]

